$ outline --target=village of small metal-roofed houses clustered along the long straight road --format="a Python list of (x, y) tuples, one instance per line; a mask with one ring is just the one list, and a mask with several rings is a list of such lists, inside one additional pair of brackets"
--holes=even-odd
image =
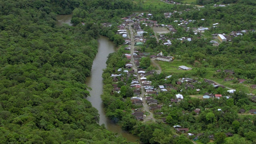
[[(148, 80), (148, 78), (152, 79), (155, 74), (160, 74), (161, 71), (159, 70), (150, 70), (147, 71), (146, 69), (143, 69), (140, 67), (140, 60), (141, 58), (149, 57), (151, 61), (164, 61), (169, 62), (172, 64), (172, 62), (175, 60), (174, 56), (164, 56), (162, 52), (159, 53), (152, 53), (150, 52), (143, 52), (139, 51), (140, 46), (143, 46), (143, 44), (146, 42), (146, 38), (144, 37), (145, 32), (140, 24), (145, 24), (146, 26), (150, 26), (152, 28), (166, 28), (165, 32), (158, 32), (157, 35), (152, 35), (152, 37), (156, 37), (157, 41), (161, 40), (163, 45), (170, 46), (172, 45), (172, 40), (180, 40), (181, 43), (183, 42), (191, 42), (192, 38), (166, 38), (164, 33), (172, 32), (175, 33), (177, 30), (174, 29), (172, 25), (163, 25), (163, 24), (157, 24), (156, 21), (149, 20), (149, 18), (152, 16), (152, 14), (147, 14), (144, 18), (144, 14), (133, 14), (131, 16), (128, 16), (126, 18), (122, 18), (124, 22), (118, 26), (118, 34), (120, 34), (124, 39), (124, 44), (126, 47), (124, 48), (126, 51), (130, 51), (123, 54), (123, 58), (126, 59), (127, 63), (124, 67), (118, 68), (116, 73), (111, 74), (112, 81), (113, 81), (113, 90), (112, 92), (120, 93), (122, 90), (120, 87), (118, 87), (118, 83), (120, 81), (124, 82), (126, 86), (130, 86), (130, 89), (133, 90), (133, 96), (130, 98), (130, 101), (132, 102), (132, 115), (134, 118), (138, 121), (161, 121), (163, 123), (166, 123), (166, 118), (168, 117), (161, 109), (162, 107), (168, 105), (168, 107), (172, 108), (172, 106), (177, 106), (180, 102), (184, 100), (184, 97), (190, 97), (190, 95), (183, 95), (180, 94), (186, 90), (191, 90), (196, 93), (196, 98), (200, 100), (206, 100), (206, 99), (229, 99), (232, 97), (232, 94), (236, 91), (231, 88), (226, 88), (225, 86), (218, 84), (212, 80), (200, 80), (198, 81), (198, 78), (179, 78), (175, 84), (171, 84), (170, 79), (172, 79), (172, 75), (166, 76), (162, 79), (162, 81), (165, 81), (162, 84), (159, 85), (153, 85), (152, 80)], [(165, 13), (166, 17), (170, 17), (172, 13)], [(204, 20), (204, 19), (202, 19)], [(189, 22), (193, 22), (194, 20), (182, 20), (180, 21), (176, 20), (174, 22), (180, 22), (178, 26), (186, 27), (186, 24)], [(104, 26), (108, 26), (107, 24), (104, 24)], [(213, 24), (213, 27), (218, 26), (218, 23)], [(187, 30), (190, 30), (190, 28), (186, 28)], [(192, 28), (195, 35), (204, 33), (205, 30), (209, 30), (209, 28), (200, 27), (200, 28)], [(218, 46), (219, 42), (225, 42), (232, 40), (232, 37), (237, 37), (239, 35), (242, 35), (242, 33), (245, 33), (246, 31), (242, 32), (232, 32), (228, 36), (225, 36), (225, 34), (212, 34), (213, 40), (210, 41), (212, 43), (212, 46)], [(134, 35), (134, 36), (133, 36)], [(217, 40), (218, 42), (217, 42)], [(178, 70), (184, 70), (189, 71), (192, 70), (192, 68), (187, 66), (178, 66)], [(223, 72), (228, 77), (224, 78), (224, 81), (230, 81), (234, 80), (233, 70), (216, 70), (216, 73)], [(238, 79), (239, 83), (243, 83), (246, 81), (245, 79)], [(126, 83), (129, 82), (129, 83)], [(203, 90), (202, 86), (200, 84), (207, 84), (208, 86), (214, 88), (215, 90)], [(252, 85), (251, 88), (256, 88), (256, 85)], [(216, 90), (223, 89), (222, 94), (217, 93)], [(204, 93), (202, 93), (204, 91)], [(206, 91), (206, 92), (205, 92)], [(215, 91), (215, 92), (212, 92)], [(174, 92), (174, 93), (173, 93)], [(157, 97), (159, 94), (171, 94), (171, 97), (169, 99), (168, 104), (164, 104), (163, 102), (160, 102), (157, 100)], [(254, 96), (252, 101), (256, 102), (256, 96)], [(182, 111), (182, 114), (192, 114), (193, 116), (200, 115), (201, 111), (208, 110), (209, 108), (201, 109), (201, 108), (194, 108), (191, 111)], [(221, 108), (217, 108), (216, 111), (224, 113)], [(237, 113), (244, 114), (245, 110), (242, 108)], [(251, 109), (249, 114), (256, 114), (256, 110)], [(167, 116), (167, 117), (166, 117)], [(187, 133), (188, 136), (193, 136), (193, 140), (196, 141), (199, 136), (203, 135), (203, 133), (199, 134), (193, 134), (190, 133), (190, 130), (184, 126), (176, 125), (174, 126), (177, 133)], [(233, 136), (232, 133), (227, 132), (226, 136)], [(214, 136), (211, 135), (209, 137), (210, 139), (214, 140)]]

